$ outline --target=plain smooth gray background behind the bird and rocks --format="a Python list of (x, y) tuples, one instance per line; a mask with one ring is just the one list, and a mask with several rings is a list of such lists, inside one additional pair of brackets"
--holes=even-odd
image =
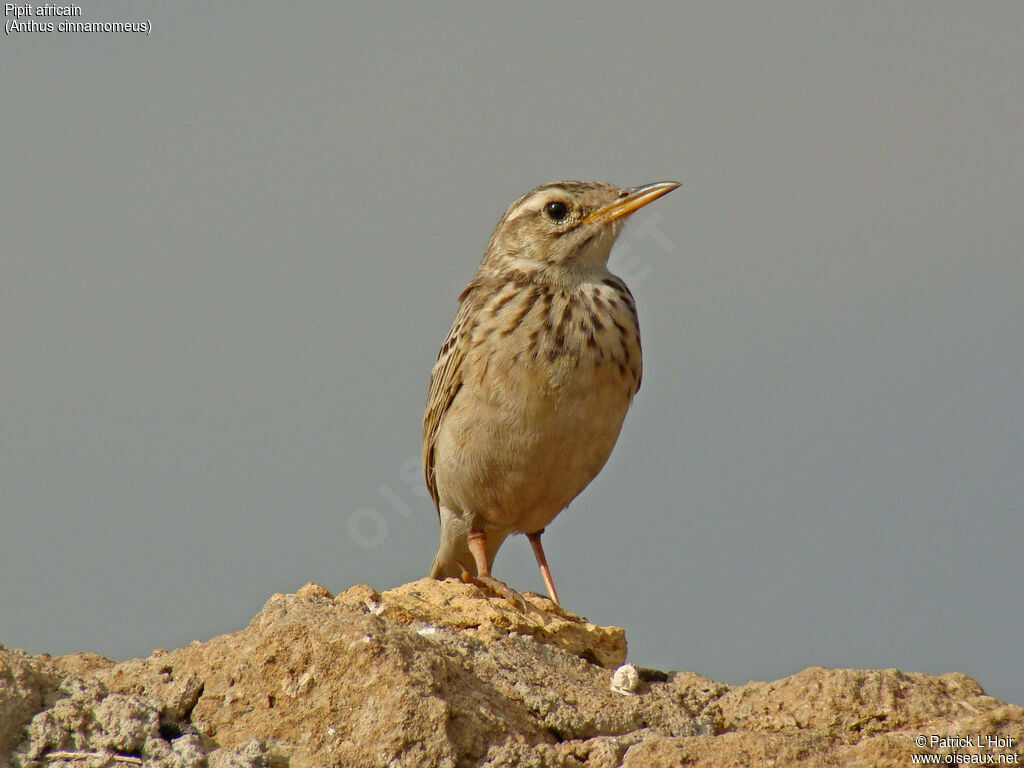
[[(565, 606), (730, 683), (1024, 702), (1024, 6), (99, 3), (0, 44), (0, 642), (146, 654), (422, 577), (427, 380), (499, 216), (683, 186)], [(52, 20), (52, 19), (51, 19)], [(497, 574), (543, 591), (525, 540)]]

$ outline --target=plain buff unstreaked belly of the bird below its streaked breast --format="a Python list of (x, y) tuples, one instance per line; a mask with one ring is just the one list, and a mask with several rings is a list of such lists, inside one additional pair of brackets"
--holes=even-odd
[(604, 466), (636, 382), (610, 360), (570, 355), (492, 365), (463, 383), (438, 434), (440, 503), (534, 532)]

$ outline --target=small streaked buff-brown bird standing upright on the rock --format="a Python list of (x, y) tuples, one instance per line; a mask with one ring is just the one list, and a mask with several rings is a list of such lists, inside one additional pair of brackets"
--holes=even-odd
[(499, 220), (430, 375), (430, 577), (524, 607), (490, 570), (505, 539), (525, 534), (559, 604), (541, 536), (604, 466), (642, 375), (636, 304), (608, 255), (632, 213), (678, 186), (546, 183)]

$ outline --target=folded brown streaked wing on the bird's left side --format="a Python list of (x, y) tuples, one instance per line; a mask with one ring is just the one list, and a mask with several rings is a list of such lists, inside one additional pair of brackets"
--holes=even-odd
[[(427, 410), (423, 415), (423, 477), (427, 481), (427, 490), (437, 507), (437, 480), (434, 477), (434, 447), (437, 444), (437, 433), (440, 431), (444, 415), (452, 407), (452, 401), (462, 388), (463, 362), (473, 324), (477, 315), (476, 296), (473, 291), (475, 283), (471, 283), (463, 291), (459, 299), (462, 301), (452, 330), (441, 344), (430, 374), (430, 389), (427, 392)], [(440, 515), (440, 510), (437, 512)]]

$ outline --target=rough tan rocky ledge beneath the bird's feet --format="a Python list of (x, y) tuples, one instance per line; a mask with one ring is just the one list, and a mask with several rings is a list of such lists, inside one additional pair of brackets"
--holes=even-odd
[[(1022, 759), (1024, 710), (986, 696), (966, 675), (811, 668), (728, 686), (624, 665), (622, 629), (543, 597), (527, 601), (519, 610), (451, 580), (383, 593), (358, 586), (337, 597), (306, 585), (273, 595), (241, 632), (148, 658), (0, 646), (0, 766)], [(946, 757), (953, 753), (958, 759)]]

